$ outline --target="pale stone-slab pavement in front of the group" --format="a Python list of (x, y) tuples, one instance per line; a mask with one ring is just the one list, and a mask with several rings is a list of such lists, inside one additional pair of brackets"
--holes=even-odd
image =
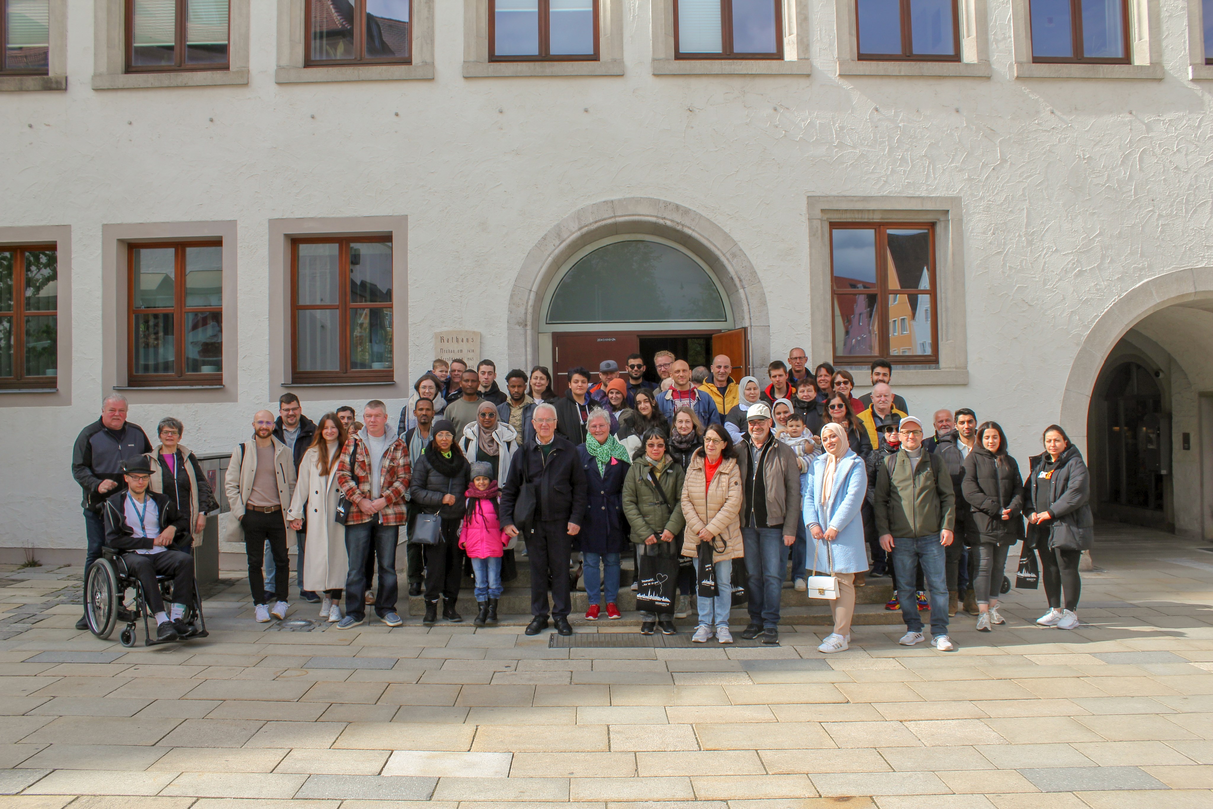
[(860, 626), (830, 656), (820, 626), (775, 649), (275, 631), (244, 581), (209, 638), (127, 650), (72, 628), (79, 569), (4, 568), (0, 809), (1209, 809), (1202, 545), (1103, 529), (1077, 631), (1012, 591), (989, 634), (953, 619), (956, 653)]

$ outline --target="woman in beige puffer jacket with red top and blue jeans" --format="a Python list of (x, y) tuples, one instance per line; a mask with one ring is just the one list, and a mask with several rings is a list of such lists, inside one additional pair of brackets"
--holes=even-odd
[[(712, 566), (716, 571), (718, 594), (700, 596), (699, 626), (691, 643), (707, 643), (712, 637), (721, 643), (733, 643), (729, 632), (729, 610), (733, 609), (733, 560), (745, 556), (741, 541), (741, 469), (738, 467), (733, 439), (723, 425), (710, 425), (704, 433), (702, 449), (695, 450), (687, 467), (687, 483), (682, 495), (687, 529), (683, 532), (683, 556), (699, 558), (702, 542), (712, 545)], [(695, 563), (696, 574), (702, 577)]]

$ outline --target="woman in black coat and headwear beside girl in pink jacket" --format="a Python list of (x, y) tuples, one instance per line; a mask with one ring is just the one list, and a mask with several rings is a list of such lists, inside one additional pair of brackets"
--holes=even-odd
[[(455, 425), (442, 418), (433, 426), (429, 444), (412, 463), (409, 498), (412, 511), (438, 514), (439, 541), (422, 545), (426, 559), (426, 616), (422, 623), (433, 626), (438, 620), (438, 596), (443, 597), (443, 617), (459, 623), (463, 617), (455, 611), (459, 586), (463, 576), (460, 559), (459, 530), (463, 522), (469, 467), (459, 444)], [(416, 517), (414, 517), (416, 519)]]

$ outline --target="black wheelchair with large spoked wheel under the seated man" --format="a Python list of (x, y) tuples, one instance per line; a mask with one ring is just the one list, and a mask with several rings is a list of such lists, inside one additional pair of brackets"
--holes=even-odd
[[(126, 623), (126, 628), (121, 631), (118, 639), (124, 646), (131, 648), (135, 645), (136, 623), (142, 617), (143, 645), (146, 646), (205, 638), (209, 633), (206, 632), (206, 619), (203, 615), (203, 602), (198, 594), (197, 581), (195, 577), (194, 600), (187, 605), (186, 615), (182, 619), (190, 627), (190, 633), (178, 637), (176, 640), (155, 640), (152, 638), (149, 623), (149, 619), (154, 619), (154, 616), (148, 609), (143, 586), (137, 576), (127, 571), (121, 552), (102, 547), (101, 558), (89, 566), (84, 579), (85, 617), (89, 621), (89, 631), (102, 640), (108, 640), (114, 627), (121, 621)], [(160, 596), (165, 604), (171, 603), (172, 577), (156, 576), (156, 583), (160, 586)], [(127, 589), (135, 591), (135, 600), (130, 605), (126, 603)]]

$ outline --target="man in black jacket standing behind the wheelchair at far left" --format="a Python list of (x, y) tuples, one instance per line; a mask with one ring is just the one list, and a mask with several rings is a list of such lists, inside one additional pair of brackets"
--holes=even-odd
[[(72, 448), (72, 477), (84, 490), (84, 528), (87, 537), (85, 570), (101, 558), (101, 546), (106, 542), (106, 524), (101, 508), (106, 498), (125, 491), (123, 461), (136, 458), (152, 451), (152, 441), (138, 425), (126, 421), (126, 397), (112, 393), (101, 403), (101, 418), (92, 422), (76, 437)], [(76, 621), (78, 629), (87, 629), (89, 621)]]

